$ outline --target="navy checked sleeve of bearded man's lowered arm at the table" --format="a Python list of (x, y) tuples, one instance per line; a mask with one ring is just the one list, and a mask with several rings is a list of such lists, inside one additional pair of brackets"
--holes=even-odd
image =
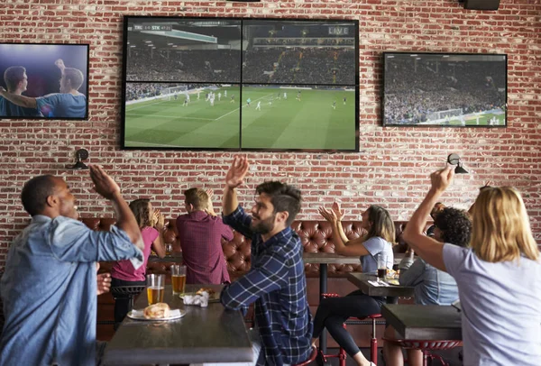
[(288, 267), (285, 258), (276, 255), (263, 255), (258, 264), (245, 276), (234, 281), (222, 291), (224, 307), (238, 310), (246, 307), (261, 295), (287, 286)]

